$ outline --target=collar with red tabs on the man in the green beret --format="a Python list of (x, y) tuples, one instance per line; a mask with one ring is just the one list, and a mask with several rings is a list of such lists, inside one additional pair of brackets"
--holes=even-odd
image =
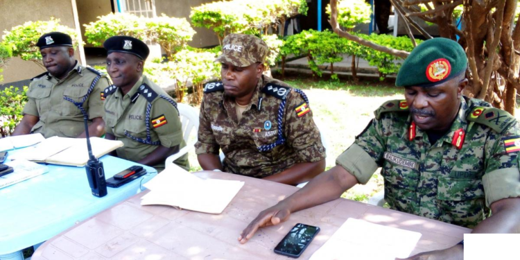
[[(466, 133), (466, 130), (467, 130), (467, 120), (466, 120), (466, 114), (467, 114), (467, 110), (469, 109), (469, 106), (467, 104), (467, 102), (465, 101), (465, 98), (463, 96), (460, 97), (460, 108), (458, 110), (458, 114), (455, 118), (455, 120), (453, 121), (453, 123), (451, 124), (451, 127), (450, 127), (450, 130), (449, 132), (447, 132), (446, 135), (444, 135), (444, 137), (442, 137), (441, 139), (437, 140), (437, 142), (435, 143), (435, 146), (436, 147), (440, 147), (442, 146), (442, 143), (444, 142), (447, 142), (449, 144), (452, 144), (453, 146), (456, 146), (456, 144), (458, 144), (458, 137), (460, 136), (461, 134), (461, 130), (462, 130), (462, 143), (464, 141), (464, 136), (465, 136), (465, 133)], [(413, 125), (413, 119), (412, 119), (412, 115), (410, 114), (408, 116), (408, 129), (406, 130), (406, 132), (404, 133), (404, 139), (406, 140), (410, 140), (410, 135), (413, 136), (413, 129), (415, 128), (415, 139), (422, 139), (424, 137), (424, 135), (426, 134), (423, 130), (420, 130), (419, 128), (417, 127), (414, 127)], [(460, 146), (458, 147), (462, 147), (462, 143), (460, 144)]]

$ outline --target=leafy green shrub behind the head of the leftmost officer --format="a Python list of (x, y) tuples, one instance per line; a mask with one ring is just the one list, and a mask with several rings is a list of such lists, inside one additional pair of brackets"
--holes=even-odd
[(40, 64), (42, 55), (36, 43), (44, 33), (59, 31), (71, 36), (73, 45), (77, 47), (83, 44), (76, 30), (60, 24), (60, 19), (51, 18), (50, 21), (27, 21), (23, 25), (12, 27), (10, 31), (4, 31), (3, 43), (12, 49), (12, 56), (22, 60), (31, 60)]

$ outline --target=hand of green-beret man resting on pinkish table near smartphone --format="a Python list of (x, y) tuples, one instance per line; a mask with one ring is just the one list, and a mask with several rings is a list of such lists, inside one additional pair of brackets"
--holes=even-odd
[(249, 223), (248, 227), (245, 227), (245, 229), (243, 229), (243, 231), (240, 233), (240, 243), (243, 244), (251, 239), (254, 235), (254, 232), (257, 232), (260, 227), (278, 225), (279, 223), (287, 220), (289, 215), (291, 215), (291, 211), (289, 210), (289, 207), (286, 206), (284, 201), (281, 201), (277, 205), (261, 211), (260, 214), (258, 214), (258, 216), (254, 218), (251, 223)]

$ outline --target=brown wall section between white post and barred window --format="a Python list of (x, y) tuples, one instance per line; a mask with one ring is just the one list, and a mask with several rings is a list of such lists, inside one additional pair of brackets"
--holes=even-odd
[(83, 24), (97, 21), (98, 16), (108, 15), (112, 12), (110, 0), (76, 0), (76, 5), (78, 6), (78, 20), (80, 22), (81, 35), (83, 42), (85, 42), (85, 47), (93, 47), (92, 44), (87, 43), (85, 26), (83, 26)]

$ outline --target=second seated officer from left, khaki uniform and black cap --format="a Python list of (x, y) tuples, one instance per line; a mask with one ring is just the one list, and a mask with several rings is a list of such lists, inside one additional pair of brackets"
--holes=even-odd
[[(186, 146), (182, 137), (177, 103), (164, 90), (143, 76), (150, 50), (141, 40), (114, 36), (107, 49), (107, 72), (114, 85), (103, 92), (106, 139), (121, 140), (117, 157), (153, 166), (158, 172), (164, 161)], [(187, 154), (175, 164), (189, 170)]]

